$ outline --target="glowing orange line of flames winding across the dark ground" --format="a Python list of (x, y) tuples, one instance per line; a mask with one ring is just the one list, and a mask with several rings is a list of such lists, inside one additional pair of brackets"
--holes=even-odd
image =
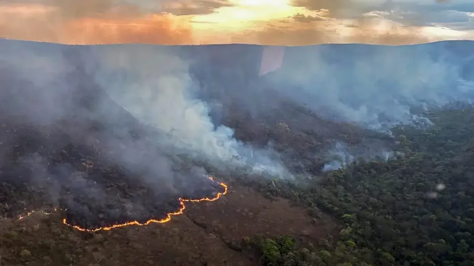
[[(214, 181), (214, 179), (211, 177), (209, 177), (210, 180)], [(217, 181), (214, 181), (214, 182), (217, 182)], [(177, 211), (175, 212), (171, 212), (171, 213), (168, 213), (166, 215), (165, 218), (161, 219), (161, 220), (156, 220), (156, 219), (150, 219), (148, 221), (146, 221), (145, 223), (140, 223), (138, 221), (130, 221), (130, 222), (126, 222), (126, 223), (123, 223), (123, 224), (117, 224), (117, 225), (112, 225), (112, 226), (108, 226), (108, 227), (100, 227), (100, 228), (96, 228), (96, 229), (85, 229), (85, 228), (81, 228), (79, 226), (75, 226), (75, 225), (71, 225), (68, 223), (68, 221), (66, 219), (63, 219), (63, 224), (69, 226), (69, 227), (72, 227), (76, 230), (79, 230), (79, 231), (82, 231), (82, 232), (97, 232), (97, 231), (109, 231), (109, 230), (112, 230), (112, 229), (115, 229), (115, 228), (120, 228), (120, 227), (126, 227), (126, 226), (132, 226), (132, 225), (136, 225), (136, 226), (146, 226), (146, 225), (149, 225), (149, 224), (153, 224), (153, 223), (158, 223), (158, 224), (163, 224), (163, 223), (166, 223), (166, 222), (169, 222), (171, 220), (171, 217), (173, 215), (180, 215), (180, 214), (183, 214), (184, 210), (186, 209), (186, 206), (184, 204), (184, 202), (200, 202), (200, 201), (214, 201), (214, 200), (217, 200), (219, 199), (221, 196), (224, 196), (227, 194), (227, 185), (223, 182), (219, 182), (219, 185), (221, 185), (223, 188), (224, 188), (224, 192), (219, 192), (216, 194), (216, 196), (214, 198), (203, 198), (203, 199), (183, 199), (183, 198), (179, 198), (179, 202), (180, 202), (180, 207)], [(55, 211), (57, 209), (54, 209)], [(21, 220), (23, 218), (26, 218), (30, 215), (32, 215), (35, 211), (31, 211), (29, 213), (27, 213), (26, 215), (20, 215), (18, 217), (18, 220)], [(46, 214), (46, 215), (49, 215), (51, 214), (52, 212), (46, 212), (46, 211), (42, 211), (43, 214)]]

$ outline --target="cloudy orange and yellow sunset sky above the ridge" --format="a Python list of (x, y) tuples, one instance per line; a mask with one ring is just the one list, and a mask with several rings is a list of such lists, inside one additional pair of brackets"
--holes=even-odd
[(66, 44), (474, 39), (474, 0), (0, 0), (0, 37)]

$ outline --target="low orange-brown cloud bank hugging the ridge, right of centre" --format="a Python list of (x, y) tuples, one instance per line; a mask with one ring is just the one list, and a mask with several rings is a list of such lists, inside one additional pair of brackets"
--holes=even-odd
[(260, 31), (236, 34), (232, 41), (267, 45), (311, 45), (317, 43), (412, 44), (440, 40), (426, 34), (421, 27), (404, 27), (383, 18), (362, 17), (341, 23), (340, 20), (314, 23), (269, 23)]

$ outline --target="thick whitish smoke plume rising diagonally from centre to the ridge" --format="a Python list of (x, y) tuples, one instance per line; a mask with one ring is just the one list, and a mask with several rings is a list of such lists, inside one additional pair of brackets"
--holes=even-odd
[(213, 124), (208, 104), (197, 98), (189, 63), (175, 53), (156, 46), (97, 47), (95, 77), (121, 106), (166, 136), (160, 140), (166, 146), (204, 157), (217, 168), (290, 177), (276, 153), (253, 149), (234, 138), (231, 128)]

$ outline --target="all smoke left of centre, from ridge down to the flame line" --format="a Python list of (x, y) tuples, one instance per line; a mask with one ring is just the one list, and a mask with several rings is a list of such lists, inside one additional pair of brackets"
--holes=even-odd
[(1, 179), (42, 188), (38, 202), (82, 227), (143, 222), (178, 198), (215, 195), (209, 168), (292, 177), (276, 152), (212, 122), (179, 47), (1, 47)]

